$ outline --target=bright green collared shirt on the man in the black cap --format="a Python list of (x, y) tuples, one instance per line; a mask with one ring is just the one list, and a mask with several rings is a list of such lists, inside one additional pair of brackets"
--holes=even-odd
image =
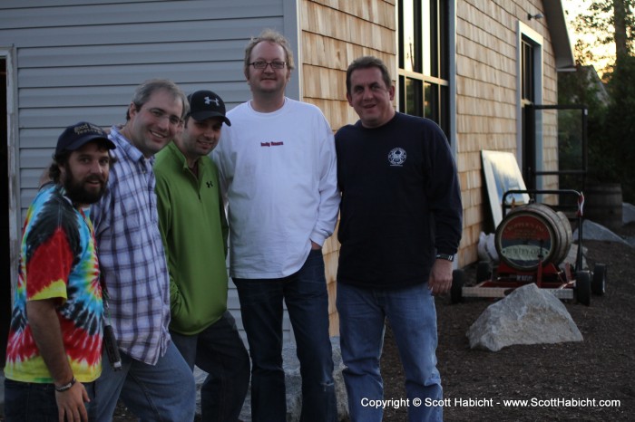
[(156, 155), (159, 227), (170, 271), (170, 329), (193, 335), (227, 310), (228, 225), (218, 169), (199, 158), (199, 177), (171, 142)]

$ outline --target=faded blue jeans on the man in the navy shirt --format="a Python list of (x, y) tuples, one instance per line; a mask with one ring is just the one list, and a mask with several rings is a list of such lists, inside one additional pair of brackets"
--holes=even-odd
[[(427, 283), (399, 290), (360, 289), (337, 283), (337, 312), (351, 421), (382, 419), (381, 408), (365, 405), (368, 400), (384, 398), (379, 360), (386, 318), (404, 366), (408, 419), (443, 420), (443, 408), (425, 406), (426, 398), (443, 398), (436, 369), (435, 298)], [(420, 400), (420, 406), (414, 405), (415, 400)]]

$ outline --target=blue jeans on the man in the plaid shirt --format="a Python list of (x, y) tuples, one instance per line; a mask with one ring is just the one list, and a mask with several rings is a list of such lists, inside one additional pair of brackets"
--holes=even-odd
[(196, 407), (194, 376), (181, 353), (170, 343), (156, 365), (134, 360), (119, 350), (122, 369), (113, 371), (103, 352), (102, 376), (95, 381), (93, 406), (99, 422), (112, 421), (121, 395), (141, 421), (191, 421)]

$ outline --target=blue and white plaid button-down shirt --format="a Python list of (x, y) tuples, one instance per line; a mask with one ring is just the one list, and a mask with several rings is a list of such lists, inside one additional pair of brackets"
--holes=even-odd
[(163, 252), (154, 158), (112, 127), (117, 162), (102, 199), (91, 207), (98, 256), (119, 347), (154, 365), (170, 341), (170, 278)]

